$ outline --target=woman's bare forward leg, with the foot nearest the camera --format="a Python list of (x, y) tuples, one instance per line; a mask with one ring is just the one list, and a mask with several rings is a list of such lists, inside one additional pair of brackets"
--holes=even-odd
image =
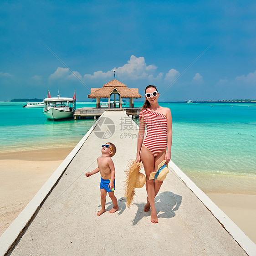
[(154, 199), (155, 199), (155, 189), (154, 189), (154, 179), (149, 179), (149, 176), (154, 172), (155, 158), (150, 150), (144, 145), (141, 148), (140, 157), (144, 166), (146, 174), (146, 190), (148, 193), (148, 201), (151, 206), (151, 222), (158, 223), (158, 218), (156, 214)]

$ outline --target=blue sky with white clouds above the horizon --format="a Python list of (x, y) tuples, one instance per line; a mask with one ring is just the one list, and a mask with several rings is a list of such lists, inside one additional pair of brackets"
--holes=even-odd
[[(159, 101), (256, 98), (255, 1), (0, 1), (0, 101), (89, 100), (116, 78)], [(47, 49), (69, 67), (69, 69)], [(88, 89), (89, 88), (89, 89)]]

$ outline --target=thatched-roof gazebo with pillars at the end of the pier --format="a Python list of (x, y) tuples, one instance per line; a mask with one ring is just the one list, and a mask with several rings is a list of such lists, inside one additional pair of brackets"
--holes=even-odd
[[(110, 102), (111, 95), (114, 94), (113, 103)], [(100, 108), (100, 99), (108, 98), (108, 108), (116, 108), (116, 95), (119, 96), (119, 108), (122, 108), (122, 99), (130, 99), (130, 108), (133, 108), (133, 98), (141, 98), (138, 88), (128, 88), (122, 82), (114, 79), (103, 85), (102, 88), (92, 88), (88, 98), (96, 98), (96, 108)]]

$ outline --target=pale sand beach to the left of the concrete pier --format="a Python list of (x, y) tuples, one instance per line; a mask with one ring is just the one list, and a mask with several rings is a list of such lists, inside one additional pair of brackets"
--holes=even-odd
[(0, 154), (0, 235), (73, 148)]

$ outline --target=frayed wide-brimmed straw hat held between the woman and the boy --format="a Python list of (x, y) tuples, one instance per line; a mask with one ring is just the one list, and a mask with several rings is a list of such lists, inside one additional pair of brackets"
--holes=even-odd
[(126, 198), (126, 205), (128, 208), (133, 205), (133, 198), (135, 196), (135, 188), (142, 188), (146, 183), (146, 177), (140, 173), (139, 170), (142, 168), (141, 163), (136, 163), (131, 160), (125, 170), (126, 179), (124, 181), (124, 197)]

